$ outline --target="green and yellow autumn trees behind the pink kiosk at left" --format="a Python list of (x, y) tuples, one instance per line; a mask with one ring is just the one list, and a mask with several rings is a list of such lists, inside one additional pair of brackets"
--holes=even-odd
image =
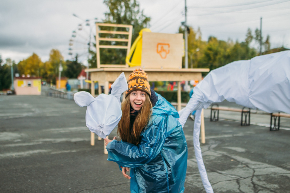
[[(64, 61), (64, 57), (57, 49), (50, 51), (48, 61), (42, 62), (37, 54), (32, 53), (30, 57), (19, 61), (17, 64), (12, 61), (11, 65), (14, 77), (41, 77), (42, 80), (52, 84), (56, 82), (60, 65), (63, 68), (61, 76), (69, 79), (76, 79), (81, 70), (85, 68), (84, 65), (78, 62), (77, 56), (75, 56), (73, 61)], [(11, 65), (7, 60), (4, 62), (0, 55), (0, 90), (10, 88)]]

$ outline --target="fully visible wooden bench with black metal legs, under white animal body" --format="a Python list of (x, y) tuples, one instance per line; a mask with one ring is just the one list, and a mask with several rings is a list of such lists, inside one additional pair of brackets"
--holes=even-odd
[(241, 126), (250, 125), (250, 112), (251, 112), (250, 108), (244, 107), (242, 109), (235, 109), (235, 108), (228, 108), (228, 107), (219, 107), (218, 104), (213, 104), (211, 105), (211, 121), (218, 121), (220, 110), (241, 112)]

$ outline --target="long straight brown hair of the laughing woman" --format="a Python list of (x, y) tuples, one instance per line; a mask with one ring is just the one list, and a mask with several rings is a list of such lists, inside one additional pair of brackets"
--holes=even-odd
[(130, 94), (128, 94), (122, 102), (122, 117), (118, 123), (118, 136), (122, 139), (122, 141), (126, 141), (134, 145), (138, 145), (140, 142), (140, 134), (149, 121), (152, 108), (152, 103), (147, 93), (145, 97), (144, 104), (139, 110), (139, 113), (133, 123), (132, 132), (130, 123)]

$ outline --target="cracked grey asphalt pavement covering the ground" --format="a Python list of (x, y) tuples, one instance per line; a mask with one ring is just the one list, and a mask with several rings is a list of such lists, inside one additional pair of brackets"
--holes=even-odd
[[(224, 103), (224, 105), (233, 105)], [(290, 192), (290, 119), (269, 131), (270, 116), (253, 111), (205, 114), (204, 164), (214, 192)], [(0, 96), (0, 192), (130, 192), (116, 163), (107, 161), (103, 140), (90, 145), (86, 107), (46, 96)], [(193, 121), (184, 126), (188, 143), (185, 192), (205, 192), (193, 148)], [(115, 128), (109, 138), (117, 134)]]

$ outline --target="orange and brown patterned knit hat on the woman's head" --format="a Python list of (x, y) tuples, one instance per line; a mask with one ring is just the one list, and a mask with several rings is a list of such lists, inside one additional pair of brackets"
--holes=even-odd
[(146, 72), (144, 72), (142, 68), (136, 68), (136, 70), (134, 70), (129, 76), (126, 97), (130, 92), (135, 90), (142, 90), (149, 94), (149, 96), (151, 97), (150, 85), (147, 78), (148, 75), (146, 74)]

